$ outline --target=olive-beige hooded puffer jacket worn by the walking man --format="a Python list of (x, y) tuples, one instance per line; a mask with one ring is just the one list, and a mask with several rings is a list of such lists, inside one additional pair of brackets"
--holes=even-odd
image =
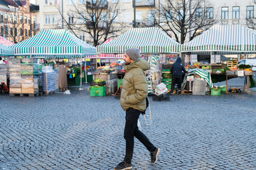
[(144, 71), (149, 69), (149, 64), (143, 60), (135, 60), (124, 66), (125, 76), (122, 83), (120, 105), (126, 111), (134, 108), (139, 111), (146, 109), (146, 96), (148, 96), (148, 85)]

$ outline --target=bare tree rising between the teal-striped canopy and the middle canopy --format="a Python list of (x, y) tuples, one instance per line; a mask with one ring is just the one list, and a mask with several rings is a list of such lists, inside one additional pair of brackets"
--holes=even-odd
[(119, 2), (109, 4), (107, 0), (90, 0), (81, 4), (73, 3), (73, 7), (73, 10), (68, 13), (68, 18), (63, 16), (59, 8), (65, 28), (68, 28), (77, 37), (78, 32), (87, 33), (92, 38), (94, 46), (124, 30), (122, 23), (117, 21), (118, 16), (122, 13)]

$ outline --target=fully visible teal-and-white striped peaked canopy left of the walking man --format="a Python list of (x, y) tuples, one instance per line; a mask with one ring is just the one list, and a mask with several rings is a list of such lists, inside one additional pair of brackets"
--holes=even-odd
[(32, 38), (11, 46), (15, 55), (70, 58), (96, 55), (96, 47), (76, 38), (68, 30), (42, 30)]

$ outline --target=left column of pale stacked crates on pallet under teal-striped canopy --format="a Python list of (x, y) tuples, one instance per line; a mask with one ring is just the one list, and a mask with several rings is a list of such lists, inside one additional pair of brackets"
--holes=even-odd
[(9, 59), (9, 94), (21, 94), (21, 59)]

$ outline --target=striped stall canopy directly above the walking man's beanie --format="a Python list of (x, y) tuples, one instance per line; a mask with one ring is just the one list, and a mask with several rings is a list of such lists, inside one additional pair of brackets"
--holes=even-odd
[(137, 47), (141, 53), (178, 53), (180, 44), (159, 28), (131, 28), (117, 39), (97, 46), (97, 53), (124, 53)]

